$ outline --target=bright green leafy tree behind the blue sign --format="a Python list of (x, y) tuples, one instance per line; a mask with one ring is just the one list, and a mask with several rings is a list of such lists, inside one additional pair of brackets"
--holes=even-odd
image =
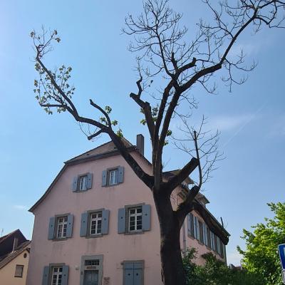
[(237, 247), (243, 255), (244, 267), (249, 272), (263, 276), (266, 284), (281, 284), (281, 269), (277, 252), (278, 244), (285, 242), (285, 203), (269, 203), (274, 212), (273, 219), (252, 227), (254, 232), (244, 229), (246, 249)]

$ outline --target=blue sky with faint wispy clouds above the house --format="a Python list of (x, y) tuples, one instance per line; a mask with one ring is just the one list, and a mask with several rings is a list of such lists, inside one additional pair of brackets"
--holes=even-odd
[[(194, 4), (190, 4), (194, 2)], [(207, 17), (200, 1), (170, 1), (184, 13), (183, 23), (195, 32), (195, 23)], [(141, 114), (130, 100), (135, 92), (135, 56), (126, 49), (130, 38), (121, 35), (125, 15), (141, 9), (140, 1), (1, 1), (0, 16), (0, 235), (21, 229), (31, 238), (31, 207), (63, 162), (108, 140), (89, 142), (68, 114), (48, 116), (33, 94), (33, 49), (30, 31), (56, 28), (61, 43), (46, 58), (46, 64), (73, 67), (78, 109), (93, 115), (88, 99), (113, 107), (125, 138), (135, 143), (135, 135), (146, 137)], [(239, 41), (249, 58), (258, 61), (243, 86), (232, 93), (219, 76), (218, 95), (194, 90), (199, 101), (195, 115), (209, 118), (212, 129), (222, 132), (219, 148), (226, 159), (204, 186), (210, 211), (222, 217), (231, 234), (228, 261), (239, 264), (237, 245), (244, 245), (242, 229), (262, 222), (271, 213), (266, 202), (284, 202), (285, 31), (264, 28), (257, 36), (247, 33)], [(135, 130), (135, 131), (134, 131)], [(165, 150), (167, 170), (187, 161), (182, 153)], [(176, 153), (176, 152), (175, 152)]]

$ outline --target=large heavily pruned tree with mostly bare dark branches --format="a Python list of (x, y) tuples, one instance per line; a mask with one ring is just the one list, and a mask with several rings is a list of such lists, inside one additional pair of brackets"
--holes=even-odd
[[(281, 12), (284, 11), (285, 2), (239, 0), (232, 4), (232, 1), (220, 1), (214, 6), (209, 0), (204, 0), (204, 4), (212, 11), (213, 21), (210, 24), (203, 20), (199, 21), (197, 35), (190, 43), (184, 41), (187, 28), (181, 28), (179, 25), (182, 15), (170, 9), (167, 2), (167, 0), (144, 0), (142, 14), (138, 18), (129, 14), (123, 29), (126, 34), (133, 36), (133, 42), (129, 46), (130, 51), (138, 53), (138, 92), (130, 93), (130, 98), (140, 107), (145, 116), (142, 123), (147, 125), (150, 133), (152, 175), (145, 173), (130, 155), (121, 140), (121, 131), (114, 130), (118, 122), (111, 120), (110, 107), (102, 108), (90, 100), (90, 105), (100, 113), (100, 118), (86, 118), (79, 115), (72, 101), (75, 88), (68, 83), (71, 67), (61, 66), (51, 71), (43, 63), (43, 56), (51, 51), (51, 43), (60, 41), (57, 31), (43, 29), (41, 34), (31, 32), (36, 51), (35, 66), (39, 74), (38, 80), (34, 82), (34, 92), (38, 103), (47, 113), (52, 113), (53, 109), (59, 113), (68, 111), (77, 122), (94, 128), (90, 129), (89, 140), (103, 133), (113, 140), (125, 161), (152, 192), (160, 222), (162, 281), (165, 285), (185, 285), (185, 272), (180, 253), (180, 229), (186, 215), (192, 209), (202, 207), (195, 197), (203, 179), (208, 177), (218, 157), (214, 155), (214, 158), (209, 159), (209, 155), (216, 153), (217, 137), (214, 135), (212, 139), (199, 145), (199, 138), (203, 138), (205, 133), (202, 129), (196, 131), (188, 128), (185, 118), (190, 116), (181, 107), (185, 105), (190, 108), (195, 107), (195, 100), (189, 95), (189, 91), (195, 85), (202, 86), (205, 92), (214, 93), (216, 85), (212, 82), (212, 76), (220, 69), (225, 71), (226, 76), (222, 77), (222, 81), (230, 89), (234, 83), (244, 83), (246, 78), (235, 78), (235, 71), (242, 73), (252, 71), (255, 63), (246, 66), (242, 51), (234, 60), (229, 56), (232, 47), (246, 29), (252, 28), (252, 31), (257, 33), (261, 26), (283, 28), (284, 15)], [(157, 104), (151, 105), (142, 96), (145, 96), (145, 88), (150, 86), (153, 78), (157, 77), (163, 79), (164, 86), (161, 92), (153, 94)], [(185, 145), (180, 147), (192, 154), (192, 158), (176, 175), (165, 182), (162, 180), (162, 150), (167, 136), (171, 135), (170, 121), (175, 116), (182, 118), (187, 133), (190, 134), (193, 147)], [(202, 165), (203, 159), (207, 166)], [(170, 195), (196, 168), (199, 181), (187, 192), (184, 201), (177, 209), (172, 209)], [(204, 219), (211, 227), (211, 221), (207, 221), (207, 217)], [(221, 239), (227, 244), (227, 237)]]

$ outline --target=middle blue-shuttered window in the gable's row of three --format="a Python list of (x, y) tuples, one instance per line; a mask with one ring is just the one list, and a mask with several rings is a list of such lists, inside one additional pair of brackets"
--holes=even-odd
[(81, 237), (101, 237), (109, 231), (108, 209), (97, 209), (81, 214)]

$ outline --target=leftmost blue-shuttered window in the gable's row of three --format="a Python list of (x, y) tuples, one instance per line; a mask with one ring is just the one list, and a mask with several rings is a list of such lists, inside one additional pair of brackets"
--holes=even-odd
[(48, 224), (48, 239), (61, 240), (72, 237), (73, 214), (51, 217)]

